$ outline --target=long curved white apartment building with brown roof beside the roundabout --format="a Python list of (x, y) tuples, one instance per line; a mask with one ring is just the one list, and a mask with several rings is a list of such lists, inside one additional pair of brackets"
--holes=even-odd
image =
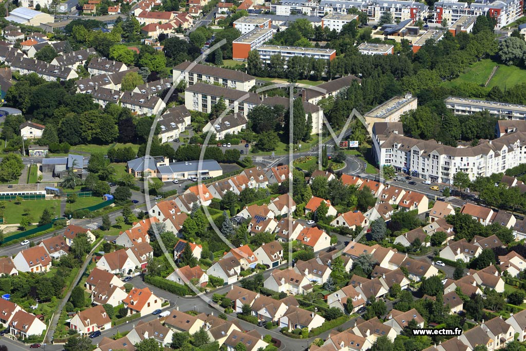
[(392, 165), (397, 172), (432, 182), (452, 184), (457, 172), (467, 173), (474, 180), (526, 162), (526, 133), (520, 131), (477, 146), (452, 147), (403, 136), (400, 129), (387, 130), (387, 124), (373, 126), (373, 147), (379, 165)]

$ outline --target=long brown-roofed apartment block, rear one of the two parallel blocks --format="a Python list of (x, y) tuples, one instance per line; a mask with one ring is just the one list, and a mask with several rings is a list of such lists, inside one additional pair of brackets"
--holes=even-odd
[(189, 86), (204, 82), (220, 84), (226, 88), (248, 92), (251, 87), (256, 85), (256, 78), (244, 72), (195, 64), (188, 61), (182, 62), (174, 67), (174, 83), (176, 83), (181, 76)]

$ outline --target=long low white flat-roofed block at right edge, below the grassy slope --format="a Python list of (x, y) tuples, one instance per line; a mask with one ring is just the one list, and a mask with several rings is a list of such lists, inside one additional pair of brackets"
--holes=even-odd
[(446, 107), (457, 115), (471, 115), (487, 110), (490, 114), (510, 119), (526, 118), (526, 106), (495, 101), (483, 101), (450, 96), (444, 100)]

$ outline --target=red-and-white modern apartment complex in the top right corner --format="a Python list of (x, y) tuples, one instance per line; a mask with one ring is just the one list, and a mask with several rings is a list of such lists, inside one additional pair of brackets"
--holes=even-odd
[(462, 16), (487, 16), (497, 19), (495, 28), (507, 26), (522, 16), (523, 0), (481, 0), (473, 3), (439, 1), (434, 3), (433, 22), (448, 25), (457, 22)]

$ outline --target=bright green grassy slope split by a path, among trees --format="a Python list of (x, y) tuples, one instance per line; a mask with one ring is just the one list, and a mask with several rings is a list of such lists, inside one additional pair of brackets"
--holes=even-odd
[[(488, 80), (493, 67), (497, 65), (497, 63), (490, 59), (483, 59), (466, 68), (458, 78), (455, 78), (450, 82), (444, 82), (442, 85), (448, 88), (461, 83), (484, 85)], [(517, 66), (500, 65), (493, 78), (491, 78), (491, 81), (488, 84), (488, 89), (493, 86), (499, 86), (501, 89), (505, 89), (524, 81), (526, 81), (526, 69)]]

